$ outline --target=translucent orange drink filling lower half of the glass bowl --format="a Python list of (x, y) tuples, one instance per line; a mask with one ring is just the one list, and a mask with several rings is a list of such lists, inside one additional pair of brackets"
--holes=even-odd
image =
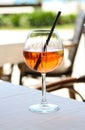
[[(38, 71), (41, 73), (46, 73), (57, 68), (62, 59), (64, 52), (63, 50), (59, 50), (56, 52), (29, 52), (28, 50), (23, 51), (23, 55), (25, 58), (25, 62), (29, 68), (34, 71)], [(35, 69), (35, 65), (40, 56), (40, 63)]]

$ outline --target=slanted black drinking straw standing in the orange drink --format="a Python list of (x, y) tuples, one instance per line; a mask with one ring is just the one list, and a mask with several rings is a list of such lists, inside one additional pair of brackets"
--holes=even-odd
[[(58, 21), (58, 18), (59, 18), (59, 16), (60, 16), (60, 14), (61, 14), (61, 11), (58, 12), (58, 14), (57, 14), (57, 16), (56, 16), (56, 18), (55, 18), (55, 21), (54, 21), (54, 23), (53, 23), (53, 25), (52, 25), (52, 28), (51, 28), (51, 30), (50, 30), (50, 33), (49, 33), (48, 38), (47, 38), (47, 40), (46, 40), (46, 43), (45, 43), (45, 45), (44, 45), (43, 51), (46, 50), (46, 47), (47, 47), (47, 45), (48, 45), (48, 43), (49, 43), (49, 41), (50, 41), (50, 38), (51, 38), (51, 36), (52, 36), (52, 33), (53, 33), (54, 28), (55, 28), (55, 26), (56, 26), (56, 24), (57, 24), (57, 21)], [(38, 66), (39, 66), (39, 64), (40, 64), (40, 62), (41, 62), (41, 54), (39, 55), (39, 58), (38, 58), (38, 60), (37, 60), (37, 62), (36, 62), (36, 64), (35, 64), (35, 66), (34, 66), (34, 69), (37, 70), (37, 68), (38, 68)]]

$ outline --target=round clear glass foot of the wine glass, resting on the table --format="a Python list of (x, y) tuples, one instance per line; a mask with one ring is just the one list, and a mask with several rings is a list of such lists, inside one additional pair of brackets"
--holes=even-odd
[(51, 113), (59, 110), (59, 107), (55, 104), (35, 104), (29, 107), (31, 112), (35, 113)]

